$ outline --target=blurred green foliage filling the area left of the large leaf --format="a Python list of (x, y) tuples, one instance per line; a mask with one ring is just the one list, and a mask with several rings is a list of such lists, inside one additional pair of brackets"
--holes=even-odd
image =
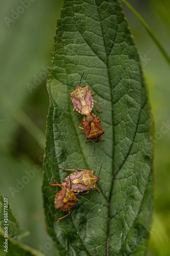
[(22, 242), (48, 255), (54, 250), (42, 209), (43, 150), (17, 122), (16, 110), (24, 110), (45, 137), (45, 80), (61, 6), (62, 0), (0, 3), (0, 192), (21, 227), (30, 232)]

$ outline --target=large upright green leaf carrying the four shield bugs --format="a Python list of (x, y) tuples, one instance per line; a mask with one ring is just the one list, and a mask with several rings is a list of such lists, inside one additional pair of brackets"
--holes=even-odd
[[(80, 134), (69, 93), (82, 73), (105, 134), (94, 151)], [(57, 22), (50, 76), (50, 107), (44, 159), (44, 207), (48, 232), (62, 255), (144, 255), (153, 209), (152, 120), (139, 56), (119, 1), (64, 1)], [(96, 107), (94, 107), (96, 113)], [(59, 168), (94, 170), (105, 195), (90, 191), (78, 199), (71, 216), (54, 208)]]

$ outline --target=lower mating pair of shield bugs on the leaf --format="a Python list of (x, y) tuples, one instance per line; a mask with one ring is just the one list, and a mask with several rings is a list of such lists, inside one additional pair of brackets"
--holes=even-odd
[[(60, 168), (62, 169), (62, 168)], [(49, 180), (50, 186), (60, 186), (61, 190), (56, 194), (54, 198), (54, 206), (56, 209), (59, 209), (61, 211), (67, 211), (68, 214), (59, 218), (58, 223), (61, 219), (67, 217), (71, 214), (70, 210), (76, 204), (77, 197), (80, 192), (84, 192), (81, 195), (87, 194), (89, 190), (93, 190), (96, 188), (96, 182), (100, 180), (99, 176), (94, 175), (94, 171), (91, 171), (90, 169), (79, 169), (77, 166), (77, 169), (79, 172), (77, 172), (76, 169), (62, 169), (62, 171), (74, 171), (74, 173), (68, 175), (68, 177), (65, 178), (65, 180), (62, 181), (62, 184), (57, 183), (57, 181), (54, 178), (55, 184), (51, 184)], [(100, 167), (100, 171), (102, 169), (102, 164)], [(99, 171), (99, 174), (100, 174)], [(96, 188), (98, 191), (98, 189)], [(104, 193), (104, 192), (103, 192)], [(81, 197), (81, 195), (79, 195)]]

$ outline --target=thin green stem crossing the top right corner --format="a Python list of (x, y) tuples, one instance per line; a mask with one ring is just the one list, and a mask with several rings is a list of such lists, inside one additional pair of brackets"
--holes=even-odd
[(127, 2), (127, 0), (123, 0), (123, 2), (134, 13), (134, 15), (136, 15), (136, 17), (140, 20), (140, 22), (145, 27), (148, 34), (152, 38), (152, 40), (155, 42), (155, 44), (157, 45), (157, 47), (161, 51), (161, 53), (164, 56), (164, 58), (166, 59), (167, 63), (170, 65), (170, 57), (167, 55), (167, 52), (164, 50), (164, 47), (162, 47), (162, 45), (159, 43), (159, 40), (156, 38), (156, 36), (154, 35), (154, 33), (152, 32), (150, 27), (147, 25), (147, 23), (144, 21), (142, 16), (133, 8), (133, 6), (130, 5), (130, 3)]

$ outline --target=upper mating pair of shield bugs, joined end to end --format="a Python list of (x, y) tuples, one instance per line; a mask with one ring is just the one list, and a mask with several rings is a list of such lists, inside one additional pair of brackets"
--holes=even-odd
[[(97, 105), (97, 112), (102, 112), (102, 111), (99, 111), (98, 103), (94, 101), (92, 97), (94, 94), (91, 93), (90, 88), (85, 84), (83, 84), (84, 87), (80, 87), (83, 75), (84, 73), (81, 76), (79, 85), (75, 87), (74, 92), (70, 93), (70, 97), (74, 105), (73, 111), (76, 110), (81, 115), (84, 115), (84, 118), (80, 123), (79, 128), (84, 129), (84, 134), (86, 135), (86, 139), (88, 141), (94, 140), (94, 143), (98, 143), (98, 142), (101, 143), (101, 136), (102, 134), (104, 134), (104, 131), (102, 128), (102, 124), (100, 122), (100, 118), (91, 112), (94, 108), (94, 103), (96, 103)], [(71, 84), (66, 84), (66, 85), (74, 87)], [(83, 126), (83, 128), (81, 127), (81, 125)], [(102, 146), (104, 145), (102, 144)], [(108, 150), (108, 148), (106, 149)], [(95, 147), (94, 147), (94, 151), (95, 151)]]

